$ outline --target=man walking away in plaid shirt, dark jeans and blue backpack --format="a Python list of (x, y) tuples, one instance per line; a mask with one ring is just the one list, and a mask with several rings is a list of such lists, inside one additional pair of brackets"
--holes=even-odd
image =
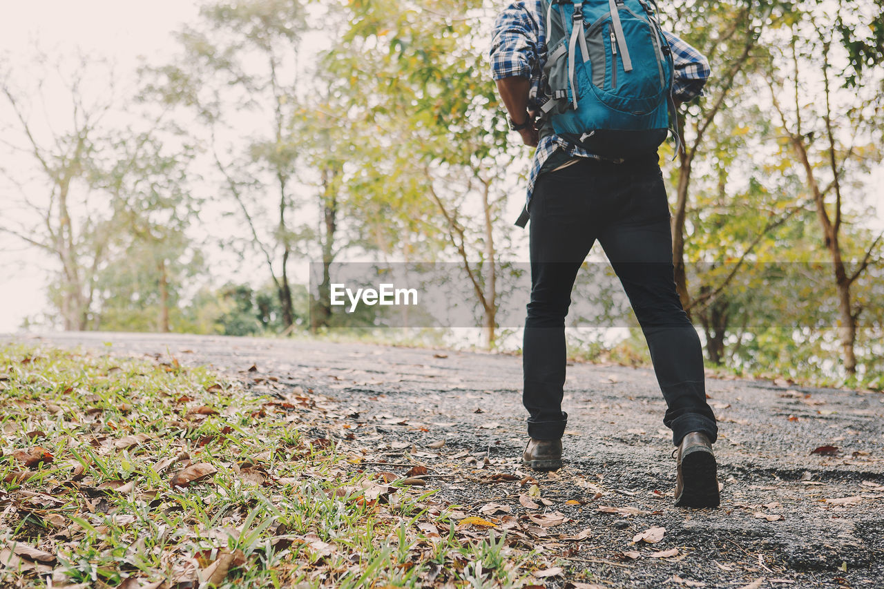
[(718, 429), (705, 401), (700, 341), (675, 290), (657, 155), (667, 103), (674, 111), (702, 92), (705, 57), (662, 32), (648, 0), (516, 0), (495, 22), (491, 57), (511, 128), (537, 147), (517, 222), (525, 226), (530, 216), (523, 462), (561, 467), (565, 317), (576, 273), (598, 240), (642, 326), (667, 402), (675, 505), (717, 506)]

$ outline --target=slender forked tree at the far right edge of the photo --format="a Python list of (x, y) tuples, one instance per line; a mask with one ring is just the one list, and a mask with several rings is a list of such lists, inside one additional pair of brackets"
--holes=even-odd
[[(850, 52), (839, 32), (856, 17), (850, 10), (870, 3), (839, 3), (830, 11), (817, 3), (803, 3), (797, 18), (777, 31), (772, 45), (779, 48), (769, 65), (767, 82), (783, 141), (797, 159), (806, 190), (817, 213), (823, 244), (832, 264), (838, 301), (838, 332), (845, 371), (857, 371), (857, 322), (863, 307), (851, 290), (881, 255), (878, 234), (859, 248), (845, 240), (851, 192), (870, 164), (880, 163), (884, 111), (880, 105), (881, 56), (866, 62), (866, 71), (851, 64)], [(860, 11), (861, 13), (861, 11)], [(837, 68), (837, 70), (835, 70)], [(839, 88), (833, 71), (850, 71), (850, 88)], [(816, 88), (821, 100), (807, 102)], [(858, 245), (858, 244), (857, 244)]]

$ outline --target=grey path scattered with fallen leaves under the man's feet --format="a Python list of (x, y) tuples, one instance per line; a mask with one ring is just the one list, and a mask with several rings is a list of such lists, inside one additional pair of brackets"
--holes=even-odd
[[(367, 462), (419, 460), (449, 473), (428, 488), (465, 514), (490, 502), (504, 509), (484, 514), (505, 523), (514, 519), (501, 519), (507, 509), (520, 521), (540, 513), (520, 505), (531, 482), (490, 476), (525, 470), (517, 461), (525, 440), (518, 357), (185, 335), (59, 333), (30, 341), (171, 355), (234, 373), (255, 364), (252, 376), (336, 400), (370, 449)], [(541, 511), (565, 517), (525, 532), (527, 545), (571, 565), (546, 585), (579, 578), (612, 587), (743, 587), (759, 579), (751, 586), (884, 586), (884, 394), (716, 379), (707, 390), (720, 420), (721, 509), (676, 509), (671, 434), (652, 371), (569, 367), (568, 465), (530, 473), (550, 503)], [(444, 447), (430, 446), (441, 440)], [(812, 455), (823, 446), (839, 451)], [(633, 543), (652, 527), (666, 529), (662, 540)], [(584, 530), (579, 543), (561, 538)], [(651, 556), (672, 548), (677, 555)]]

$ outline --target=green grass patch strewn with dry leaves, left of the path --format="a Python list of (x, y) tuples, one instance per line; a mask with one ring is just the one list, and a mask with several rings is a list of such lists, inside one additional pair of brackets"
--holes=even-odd
[[(174, 585), (212, 570), (219, 587), (528, 578), (532, 553), (459, 530), (431, 491), (375, 497), (331, 433), (302, 433), (328, 424), (204, 368), (11, 345), (0, 348), (0, 402), (0, 549), (47, 553), (42, 567), (22, 555), (0, 569), (2, 586)], [(118, 442), (136, 434), (147, 436)], [(51, 460), (14, 455), (34, 447)], [(217, 472), (172, 487), (193, 463)]]

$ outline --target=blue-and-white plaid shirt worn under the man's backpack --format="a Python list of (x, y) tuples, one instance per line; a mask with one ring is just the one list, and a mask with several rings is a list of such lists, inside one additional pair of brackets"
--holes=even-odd
[[(492, 78), (500, 80), (521, 76), (531, 80), (528, 105), (537, 110), (546, 102), (542, 91), (546, 80), (543, 70), (546, 63), (545, 13), (541, 0), (514, 0), (498, 15), (492, 35)], [(663, 34), (667, 38), (675, 65), (672, 87), (673, 98), (686, 103), (703, 94), (703, 86), (709, 78), (709, 62), (699, 51), (674, 34)], [(534, 191), (534, 184), (544, 162), (556, 149), (562, 149), (571, 157), (594, 157), (578, 146), (565, 141), (559, 135), (544, 137), (534, 152), (531, 170), (528, 175), (528, 196), (525, 210)]]

